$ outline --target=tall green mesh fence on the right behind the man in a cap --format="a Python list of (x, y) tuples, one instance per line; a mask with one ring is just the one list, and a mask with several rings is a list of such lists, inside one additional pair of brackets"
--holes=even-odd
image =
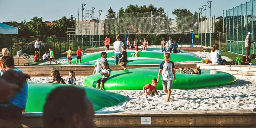
[[(244, 41), (247, 33), (252, 33), (251, 40), (254, 40), (256, 36), (254, 34), (256, 32), (256, 0), (226, 10), (226, 18), (227, 51), (246, 55)], [(250, 54), (255, 54), (255, 43), (252, 43)]]

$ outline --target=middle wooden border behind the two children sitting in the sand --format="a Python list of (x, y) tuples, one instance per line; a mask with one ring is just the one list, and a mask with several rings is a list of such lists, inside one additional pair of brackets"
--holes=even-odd
[[(196, 64), (176, 64), (178, 67), (196, 68)], [(58, 65), (58, 66), (15, 66), (19, 70), (30, 75), (31, 77), (51, 76), (52, 70), (58, 70), (61, 76), (68, 75), (69, 71), (74, 71), (76, 76), (92, 75), (94, 65)], [(110, 65), (113, 71), (123, 70), (119, 65)], [(127, 65), (127, 69), (143, 68), (143, 67), (159, 67), (159, 64), (147, 65)]]

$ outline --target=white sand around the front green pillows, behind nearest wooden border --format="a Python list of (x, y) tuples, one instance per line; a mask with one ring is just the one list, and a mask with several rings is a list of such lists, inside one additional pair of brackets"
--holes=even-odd
[[(64, 77), (63, 77), (64, 78)], [(76, 77), (78, 85), (84, 84), (86, 77)], [(30, 82), (46, 83), (51, 77), (32, 77)], [(145, 96), (142, 90), (113, 91), (126, 96), (127, 101), (99, 111), (118, 110), (191, 110), (191, 109), (251, 109), (256, 104), (255, 78), (239, 77), (233, 85), (222, 87), (172, 90), (171, 102), (165, 102), (167, 95), (158, 90), (159, 95)]]

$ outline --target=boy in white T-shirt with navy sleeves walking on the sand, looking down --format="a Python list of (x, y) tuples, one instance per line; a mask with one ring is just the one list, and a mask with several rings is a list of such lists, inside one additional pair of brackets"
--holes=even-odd
[(163, 61), (159, 67), (157, 82), (159, 81), (160, 75), (162, 73), (163, 89), (167, 94), (166, 102), (169, 102), (170, 96), (171, 96), (172, 82), (173, 80), (176, 81), (176, 76), (174, 71), (174, 63), (170, 61), (171, 59), (170, 53), (168, 52), (164, 53), (164, 59), (165, 61)]

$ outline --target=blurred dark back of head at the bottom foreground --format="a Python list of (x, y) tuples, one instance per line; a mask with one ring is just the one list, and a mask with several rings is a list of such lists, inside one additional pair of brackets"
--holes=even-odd
[(94, 108), (83, 89), (57, 87), (46, 99), (45, 128), (95, 128), (93, 118)]

